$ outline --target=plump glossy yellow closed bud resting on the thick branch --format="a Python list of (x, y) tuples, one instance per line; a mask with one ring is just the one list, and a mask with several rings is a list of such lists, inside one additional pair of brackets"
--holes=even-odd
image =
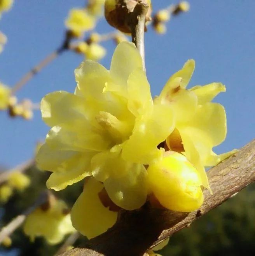
[(200, 174), (184, 155), (168, 151), (147, 171), (149, 189), (165, 208), (191, 212), (203, 203)]

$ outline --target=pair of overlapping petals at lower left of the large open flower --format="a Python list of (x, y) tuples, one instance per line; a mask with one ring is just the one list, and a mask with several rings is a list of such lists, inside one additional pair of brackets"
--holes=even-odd
[(47, 180), (47, 187), (59, 191), (68, 185), (90, 176), (90, 161), (94, 152), (56, 150), (42, 145), (37, 154), (37, 166), (53, 173)]

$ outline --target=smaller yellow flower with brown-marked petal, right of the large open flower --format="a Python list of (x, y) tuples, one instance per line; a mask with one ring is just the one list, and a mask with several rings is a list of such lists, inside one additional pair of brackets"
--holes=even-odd
[(194, 60), (188, 60), (183, 68), (169, 78), (155, 104), (173, 108), (175, 130), (166, 139), (170, 150), (182, 152), (199, 170), (202, 184), (210, 189), (204, 166), (213, 166), (229, 155), (216, 155), (212, 148), (224, 141), (227, 126), (225, 109), (211, 100), (225, 92), (222, 83), (211, 83), (186, 89), (195, 68)]

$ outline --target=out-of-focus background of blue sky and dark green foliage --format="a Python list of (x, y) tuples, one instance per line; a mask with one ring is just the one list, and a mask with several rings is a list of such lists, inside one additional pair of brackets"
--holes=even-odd
[[(152, 0), (157, 12), (178, 1)], [(157, 34), (148, 26), (145, 35), (145, 61), (152, 95), (157, 95), (169, 76), (178, 71), (189, 58), (196, 60), (196, 69), (189, 87), (211, 82), (222, 82), (227, 92), (216, 101), (225, 106), (228, 134), (222, 145), (215, 148), (220, 154), (241, 148), (254, 138), (254, 62), (255, 62), (255, 1), (254, 0), (189, 0), (190, 11), (172, 17), (166, 23), (165, 34)], [(0, 81), (10, 87), (40, 60), (58, 48), (65, 36), (64, 21), (73, 7), (83, 7), (83, 0), (14, 1), (12, 9), (0, 20), (0, 30), (8, 42), (0, 54)], [(114, 31), (104, 18), (95, 29), (100, 34)], [(107, 49), (100, 61), (107, 68), (115, 43), (101, 44)], [(47, 65), (17, 92), (20, 99), (37, 103), (55, 90), (73, 92), (74, 69), (84, 56), (66, 51)], [(49, 130), (41, 120), (40, 111), (30, 121), (10, 118), (0, 111), (0, 168), (14, 168), (34, 155), (36, 143), (43, 141)], [(31, 168), (32, 185), (22, 194), (16, 193), (0, 209), (0, 225), (7, 223), (35, 200), (39, 190), (45, 188), (47, 173)], [(70, 206), (80, 194), (78, 183), (59, 197)], [(67, 196), (68, 195), (68, 196)], [(8, 213), (8, 214), (6, 214)], [(165, 256), (237, 256), (255, 253), (255, 185), (211, 211), (199, 221), (170, 238), (162, 250)], [(77, 244), (81, 241), (78, 240)], [(49, 247), (43, 238), (29, 242), (21, 231), (12, 236), (12, 249), (0, 249), (5, 255), (53, 255), (58, 246)], [(13, 249), (16, 248), (16, 249)]]

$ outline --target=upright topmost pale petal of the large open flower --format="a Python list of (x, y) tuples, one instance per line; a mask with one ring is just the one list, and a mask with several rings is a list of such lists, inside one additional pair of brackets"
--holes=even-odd
[(141, 56), (131, 42), (118, 44), (112, 56), (110, 73), (121, 85), (126, 85), (128, 77), (136, 68), (142, 68)]

